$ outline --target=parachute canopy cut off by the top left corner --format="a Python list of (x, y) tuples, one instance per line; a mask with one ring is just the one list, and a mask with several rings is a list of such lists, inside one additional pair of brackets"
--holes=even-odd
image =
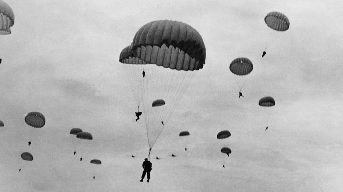
[(14, 13), (7, 3), (0, 0), (0, 35), (11, 34), (14, 25)]

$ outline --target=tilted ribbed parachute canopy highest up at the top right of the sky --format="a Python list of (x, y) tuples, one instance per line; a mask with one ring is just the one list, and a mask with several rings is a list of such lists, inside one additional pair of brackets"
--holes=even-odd
[(265, 17), (265, 23), (268, 27), (276, 31), (286, 31), (289, 28), (288, 18), (280, 12), (270, 12)]

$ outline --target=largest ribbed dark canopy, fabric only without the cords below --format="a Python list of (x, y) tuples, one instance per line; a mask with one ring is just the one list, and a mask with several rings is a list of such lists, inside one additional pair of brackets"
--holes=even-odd
[(121, 52), (119, 61), (193, 71), (203, 68), (205, 58), (206, 49), (199, 32), (179, 21), (159, 20), (138, 30), (131, 46)]

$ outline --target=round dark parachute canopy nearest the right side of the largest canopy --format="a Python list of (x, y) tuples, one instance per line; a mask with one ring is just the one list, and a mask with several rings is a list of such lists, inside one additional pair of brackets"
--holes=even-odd
[(248, 75), (252, 69), (252, 62), (245, 57), (234, 59), (230, 64), (230, 71), (235, 75)]

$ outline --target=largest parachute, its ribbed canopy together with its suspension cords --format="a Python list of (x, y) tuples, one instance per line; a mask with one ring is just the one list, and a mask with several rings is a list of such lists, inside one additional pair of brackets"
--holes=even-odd
[[(122, 50), (119, 61), (129, 73), (127, 78), (138, 107), (143, 101), (150, 149), (194, 72), (203, 68), (205, 58), (206, 49), (199, 32), (188, 24), (170, 20), (145, 24), (131, 45)], [(164, 107), (152, 107), (156, 98), (163, 98)]]

